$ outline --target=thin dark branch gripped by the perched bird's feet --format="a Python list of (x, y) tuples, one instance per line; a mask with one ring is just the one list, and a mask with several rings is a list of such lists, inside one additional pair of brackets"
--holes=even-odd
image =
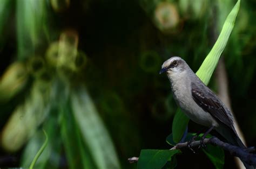
[[(172, 149), (170, 150), (186, 149), (188, 148), (187, 143), (188, 142), (178, 143), (176, 146), (172, 147)], [(225, 143), (220, 139), (218, 139), (217, 137), (205, 138), (203, 140), (203, 143), (219, 146), (224, 150), (230, 152), (232, 156), (239, 157), (241, 160), (245, 161), (245, 163), (256, 167), (256, 154), (251, 153), (256, 151), (255, 147), (247, 147), (246, 149), (242, 149), (241, 147)], [(200, 145), (200, 140), (191, 142), (191, 147), (198, 147), (199, 145)], [(136, 163), (138, 160), (139, 160), (138, 157), (132, 157), (128, 159), (130, 163)]]

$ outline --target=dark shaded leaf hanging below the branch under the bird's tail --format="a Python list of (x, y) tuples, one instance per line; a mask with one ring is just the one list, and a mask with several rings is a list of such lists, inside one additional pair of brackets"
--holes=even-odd
[(212, 161), (216, 169), (222, 169), (225, 162), (224, 150), (218, 146), (208, 144), (205, 149), (202, 149), (207, 157)]

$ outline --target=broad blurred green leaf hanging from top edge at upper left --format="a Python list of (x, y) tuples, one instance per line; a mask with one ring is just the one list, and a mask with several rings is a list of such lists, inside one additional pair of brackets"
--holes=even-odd
[(17, 49), (20, 60), (35, 54), (36, 47), (42, 43), (42, 32), (47, 23), (45, 7), (46, 1), (16, 1)]

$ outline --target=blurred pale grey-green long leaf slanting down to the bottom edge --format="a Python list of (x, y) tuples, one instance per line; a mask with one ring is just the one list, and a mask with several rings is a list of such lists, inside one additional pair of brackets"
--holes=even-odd
[(109, 132), (84, 86), (71, 92), (73, 115), (97, 168), (120, 168)]

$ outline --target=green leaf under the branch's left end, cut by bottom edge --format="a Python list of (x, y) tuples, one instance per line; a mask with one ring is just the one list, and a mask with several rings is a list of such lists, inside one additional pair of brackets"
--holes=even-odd
[(180, 150), (142, 150), (140, 152), (138, 169), (158, 169), (163, 168), (172, 156), (180, 153)]

